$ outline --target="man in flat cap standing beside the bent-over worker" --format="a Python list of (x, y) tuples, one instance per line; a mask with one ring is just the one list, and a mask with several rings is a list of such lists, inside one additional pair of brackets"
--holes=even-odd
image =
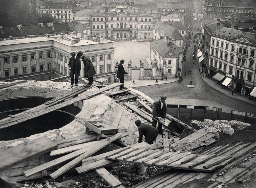
[[(154, 107), (153, 107), (153, 121), (152, 121), (152, 126), (156, 127), (157, 126), (157, 120), (159, 120), (159, 117), (162, 117), (163, 119), (165, 119), (166, 117), (166, 96), (165, 95), (161, 95), (160, 97), (161, 99), (159, 99), (158, 101), (156, 101), (154, 103)], [(156, 120), (155, 120), (156, 119)], [(157, 130), (160, 134), (163, 134), (162, 132), (162, 123), (158, 122), (158, 127)]]

